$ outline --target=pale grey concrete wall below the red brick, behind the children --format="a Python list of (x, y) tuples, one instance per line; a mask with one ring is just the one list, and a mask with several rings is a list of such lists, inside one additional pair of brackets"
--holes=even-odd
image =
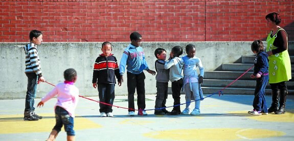
[[(41, 60), (41, 70), (44, 78), (53, 84), (63, 82), (63, 71), (75, 68), (78, 73), (76, 86), (81, 96), (97, 96), (98, 91), (92, 86), (94, 62), (101, 54), (102, 42), (47, 42), (38, 47)], [(184, 47), (188, 43), (196, 45), (196, 56), (202, 60), (206, 70), (214, 70), (222, 63), (232, 63), (242, 55), (254, 55), (251, 52), (251, 42), (143, 42), (147, 63), (154, 70), (154, 50), (164, 48), (168, 54), (175, 45)], [(27, 77), (25, 70), (24, 42), (0, 43), (0, 99), (25, 98)], [(120, 62), (122, 52), (129, 42), (113, 42), (112, 53)], [(183, 56), (186, 53), (183, 54)], [(145, 72), (146, 94), (156, 93), (155, 76)], [(127, 79), (121, 87), (116, 86), (116, 95), (127, 95)], [(37, 87), (37, 97), (43, 97), (53, 86), (40, 83)]]

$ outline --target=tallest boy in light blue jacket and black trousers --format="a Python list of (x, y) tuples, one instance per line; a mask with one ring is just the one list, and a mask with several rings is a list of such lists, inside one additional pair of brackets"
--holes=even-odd
[(123, 74), (125, 73), (125, 67), (127, 65), (127, 87), (128, 87), (128, 115), (134, 116), (134, 93), (137, 89), (137, 104), (138, 115), (147, 115), (145, 111), (145, 74), (143, 70), (146, 70), (149, 74), (155, 75), (154, 70), (149, 69), (145, 60), (145, 54), (142, 49), (141, 40), (142, 35), (138, 32), (132, 32), (130, 34), (131, 43), (124, 50), (122, 59), (120, 62), (120, 75), (123, 82)]

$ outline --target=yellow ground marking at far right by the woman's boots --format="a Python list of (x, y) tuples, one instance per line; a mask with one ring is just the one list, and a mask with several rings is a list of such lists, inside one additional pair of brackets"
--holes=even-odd
[(294, 123), (294, 113), (293, 110), (286, 111), (285, 114), (275, 114), (275, 113), (268, 113), (267, 115), (251, 115), (248, 114), (248, 111), (231, 111), (229, 113), (232, 114), (242, 114), (242, 116), (248, 114), (249, 119), (262, 121), (262, 122), (287, 122), (287, 123)]

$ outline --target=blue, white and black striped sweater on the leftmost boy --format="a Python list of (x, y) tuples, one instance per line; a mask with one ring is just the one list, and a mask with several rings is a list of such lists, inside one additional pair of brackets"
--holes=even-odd
[(35, 73), (39, 77), (42, 77), (37, 46), (34, 43), (28, 43), (26, 46), (24, 46), (24, 50), (26, 54), (25, 73)]

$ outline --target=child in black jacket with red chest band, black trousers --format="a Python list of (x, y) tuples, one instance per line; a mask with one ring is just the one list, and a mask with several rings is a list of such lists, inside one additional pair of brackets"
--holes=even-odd
[[(121, 86), (120, 70), (117, 63), (117, 58), (111, 54), (112, 46), (110, 42), (102, 43), (102, 52), (97, 57), (93, 70), (93, 87), (98, 87), (100, 102), (112, 105), (115, 100), (115, 84), (118, 79), (118, 84)], [(98, 80), (98, 81), (97, 81)], [(112, 106), (99, 103), (100, 116), (112, 117)]]

